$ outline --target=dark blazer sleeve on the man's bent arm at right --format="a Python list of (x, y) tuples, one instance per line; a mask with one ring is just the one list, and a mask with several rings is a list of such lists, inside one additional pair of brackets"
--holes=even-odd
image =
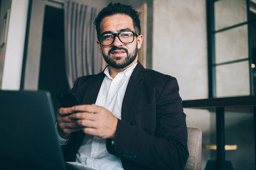
[[(114, 142), (108, 140), (107, 149), (121, 157), (127, 166), (137, 164), (145, 169), (183, 169), (188, 159), (188, 135), (186, 115), (174, 77), (169, 77), (161, 88), (155, 104), (154, 134), (118, 120)], [(123, 166), (125, 169), (125, 164)]]

